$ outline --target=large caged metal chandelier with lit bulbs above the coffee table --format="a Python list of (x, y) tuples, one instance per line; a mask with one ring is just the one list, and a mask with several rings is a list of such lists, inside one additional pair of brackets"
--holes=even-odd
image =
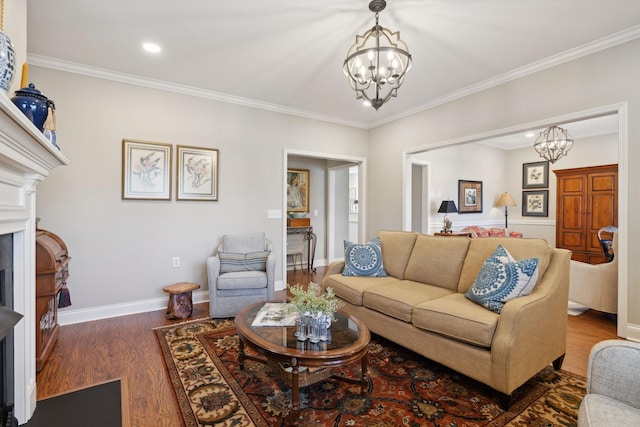
[(369, 10), (376, 14), (376, 25), (356, 35), (344, 60), (342, 70), (349, 77), (356, 99), (364, 98), (376, 110), (396, 96), (404, 75), (411, 68), (411, 54), (400, 40), (400, 32), (381, 27), (378, 14), (387, 6), (385, 0), (372, 0)]

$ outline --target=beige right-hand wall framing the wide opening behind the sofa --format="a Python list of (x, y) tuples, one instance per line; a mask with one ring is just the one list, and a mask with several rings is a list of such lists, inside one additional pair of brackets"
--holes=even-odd
[[(638, 75), (640, 40), (634, 40), (373, 129), (369, 138), (367, 187), (376, 191), (368, 198), (368, 234), (374, 235), (380, 229), (400, 229), (403, 225), (402, 179), (407, 152), (523, 124), (543, 125), (545, 119), (626, 103), (628, 118), (624, 117), (623, 123), (627, 126), (622, 129), (620, 138), (624, 144), (628, 141), (624, 145), (628, 153), (619, 153), (619, 157), (623, 166), (621, 182), (624, 184), (626, 179), (629, 185), (621, 187), (620, 194), (620, 225), (626, 233), (621, 236), (621, 252), (624, 253), (620, 254), (620, 260), (624, 266), (627, 256), (629, 260), (640, 258), (640, 239), (636, 238), (640, 235), (640, 223), (634, 221), (635, 215), (632, 215), (640, 209), (640, 188), (634, 185), (640, 182), (640, 169), (633, 167), (640, 159)], [(624, 163), (627, 161), (628, 170)], [(458, 163), (461, 170), (469, 166)], [(629, 335), (640, 339), (640, 311), (637, 310), (640, 306), (640, 271), (622, 268), (620, 281), (624, 292), (621, 300), (627, 301), (624, 312), (628, 313), (628, 324), (623, 327)]]

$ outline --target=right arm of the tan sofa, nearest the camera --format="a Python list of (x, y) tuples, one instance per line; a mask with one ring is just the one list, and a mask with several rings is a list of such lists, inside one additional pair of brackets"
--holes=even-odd
[(491, 346), (497, 390), (510, 394), (565, 354), (570, 260), (570, 251), (554, 249), (533, 292), (504, 305)]

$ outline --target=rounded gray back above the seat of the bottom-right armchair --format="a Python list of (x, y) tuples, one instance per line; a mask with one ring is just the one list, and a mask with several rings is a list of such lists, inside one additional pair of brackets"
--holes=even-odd
[(640, 409), (640, 343), (605, 340), (589, 355), (587, 393), (600, 394)]

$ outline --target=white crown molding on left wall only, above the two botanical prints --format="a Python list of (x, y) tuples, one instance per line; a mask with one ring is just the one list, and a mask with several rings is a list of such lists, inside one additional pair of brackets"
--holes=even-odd
[(111, 80), (119, 83), (142, 86), (167, 92), (179, 93), (182, 95), (194, 96), (228, 104), (241, 105), (249, 108), (257, 108), (260, 110), (267, 110), (275, 113), (289, 114), (292, 116), (304, 117), (307, 119), (330, 122), (361, 129), (368, 129), (369, 127), (366, 123), (362, 122), (344, 120), (339, 117), (326, 116), (322, 114), (312, 113), (310, 111), (299, 110), (277, 104), (270, 104), (268, 102), (256, 101), (249, 98), (242, 98), (240, 96), (227, 95), (224, 93), (200, 89), (193, 86), (185, 86), (177, 83), (170, 83), (162, 80), (140, 77), (133, 74), (119, 73), (116, 71), (107, 70), (105, 68), (92, 67), (89, 65), (78, 64), (77, 62), (64, 61), (48, 56), (28, 53), (27, 62), (30, 65), (35, 65), (37, 67), (50, 68), (52, 70), (65, 71), (68, 73), (80, 74), (83, 76)]

